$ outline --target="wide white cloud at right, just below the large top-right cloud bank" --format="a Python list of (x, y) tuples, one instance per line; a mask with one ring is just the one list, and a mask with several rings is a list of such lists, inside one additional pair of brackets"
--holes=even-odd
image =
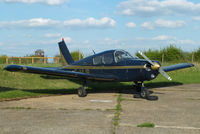
[(158, 19), (154, 22), (144, 22), (141, 27), (149, 30), (153, 30), (154, 28), (180, 28), (185, 26), (186, 23), (182, 20), (163, 20)]

